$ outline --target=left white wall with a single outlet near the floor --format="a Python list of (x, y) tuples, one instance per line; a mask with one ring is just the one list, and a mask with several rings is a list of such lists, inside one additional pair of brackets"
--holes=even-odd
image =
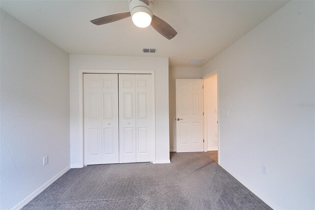
[(6, 210), (69, 168), (69, 56), (3, 10), (0, 27), (0, 209)]

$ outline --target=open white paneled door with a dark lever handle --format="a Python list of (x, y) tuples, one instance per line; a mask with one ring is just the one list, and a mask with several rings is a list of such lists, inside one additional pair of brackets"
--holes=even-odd
[(176, 150), (203, 151), (203, 80), (176, 79)]

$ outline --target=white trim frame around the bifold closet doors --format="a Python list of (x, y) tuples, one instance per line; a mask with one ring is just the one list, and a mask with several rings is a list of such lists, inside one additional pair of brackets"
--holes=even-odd
[[(151, 74), (152, 75), (152, 163), (157, 162), (156, 157), (156, 96), (155, 96), (155, 71), (154, 70), (79, 70), (79, 140), (80, 140), (80, 155), (81, 166), (84, 166), (84, 101), (83, 101), (83, 74), (84, 73), (117, 73), (117, 74)], [(70, 87), (71, 88), (71, 87)], [(71, 120), (71, 119), (70, 119)], [(71, 135), (71, 133), (70, 133)]]

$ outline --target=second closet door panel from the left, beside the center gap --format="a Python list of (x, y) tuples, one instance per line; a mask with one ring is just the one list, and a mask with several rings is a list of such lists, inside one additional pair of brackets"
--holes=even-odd
[(118, 74), (100, 74), (102, 163), (119, 163)]

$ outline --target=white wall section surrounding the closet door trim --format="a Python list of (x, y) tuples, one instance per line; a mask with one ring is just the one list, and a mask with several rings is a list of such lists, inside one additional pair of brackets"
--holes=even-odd
[(168, 58), (70, 55), (71, 167), (83, 167), (83, 112), (80, 70), (154, 70), (156, 89), (156, 160), (169, 162)]

